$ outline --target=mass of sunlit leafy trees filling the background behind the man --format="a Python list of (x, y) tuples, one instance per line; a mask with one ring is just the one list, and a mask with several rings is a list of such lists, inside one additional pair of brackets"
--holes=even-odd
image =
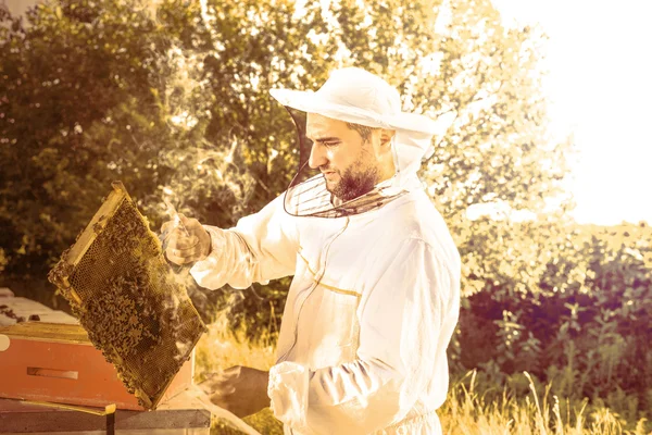
[(544, 136), (541, 36), (504, 28), (489, 1), (58, 0), (2, 21), (1, 243), (22, 278), (43, 276), (113, 178), (154, 226), (163, 197), (221, 226), (260, 209), (298, 157), (267, 90), (316, 89), (336, 66), (385, 76), (406, 110), (457, 113), (424, 177), (465, 256), (481, 249), (466, 247), (469, 204), (540, 207), (564, 172), (567, 145)]

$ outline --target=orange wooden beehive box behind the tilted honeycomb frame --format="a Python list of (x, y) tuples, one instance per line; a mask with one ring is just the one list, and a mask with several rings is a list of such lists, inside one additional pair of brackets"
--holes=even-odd
[[(192, 384), (193, 353), (162, 400)], [(25, 322), (0, 327), (0, 397), (142, 410), (115, 366), (74, 324)]]

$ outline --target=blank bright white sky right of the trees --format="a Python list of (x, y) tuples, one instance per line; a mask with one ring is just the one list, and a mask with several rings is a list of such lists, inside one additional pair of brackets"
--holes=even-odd
[(493, 0), (550, 36), (551, 117), (575, 132), (581, 223), (652, 223), (652, 0)]

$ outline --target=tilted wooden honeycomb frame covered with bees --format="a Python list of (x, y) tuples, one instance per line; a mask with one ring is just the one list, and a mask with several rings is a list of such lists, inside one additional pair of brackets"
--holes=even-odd
[(154, 409), (205, 326), (122, 183), (49, 279), (127, 390)]

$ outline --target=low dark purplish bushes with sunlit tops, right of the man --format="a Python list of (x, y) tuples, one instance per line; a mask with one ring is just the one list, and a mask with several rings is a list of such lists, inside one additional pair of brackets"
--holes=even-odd
[[(452, 357), (503, 384), (528, 371), (559, 397), (603, 400), (636, 421), (652, 406), (652, 234), (572, 228), (512, 224), (492, 234), (493, 251), (469, 248), (481, 262), (465, 264), (473, 290)], [(523, 246), (503, 249), (509, 240)]]

